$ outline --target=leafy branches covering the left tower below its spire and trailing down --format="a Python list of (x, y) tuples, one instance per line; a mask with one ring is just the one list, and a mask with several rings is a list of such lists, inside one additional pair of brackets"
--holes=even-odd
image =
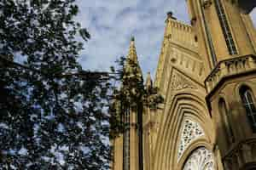
[(125, 111), (129, 110), (137, 114), (140, 107), (150, 108), (151, 110), (159, 109), (159, 105), (164, 99), (158, 94), (158, 88), (145, 87), (143, 75), (137, 62), (131, 59), (121, 57), (118, 61), (119, 68), (113, 72), (117, 73), (117, 79), (120, 80), (120, 88), (116, 88), (113, 93), (113, 105), (111, 107), (111, 138), (124, 132), (125, 129)]

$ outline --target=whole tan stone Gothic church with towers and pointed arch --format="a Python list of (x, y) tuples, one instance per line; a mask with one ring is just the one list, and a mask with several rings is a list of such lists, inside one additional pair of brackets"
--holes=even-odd
[[(255, 1), (186, 1), (190, 25), (167, 14), (155, 80), (145, 81), (164, 102), (144, 108), (143, 133), (126, 116), (112, 170), (256, 169)], [(138, 62), (134, 39), (127, 57)]]

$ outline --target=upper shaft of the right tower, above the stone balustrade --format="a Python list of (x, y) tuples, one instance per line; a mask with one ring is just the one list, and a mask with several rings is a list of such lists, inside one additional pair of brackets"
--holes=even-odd
[(207, 73), (219, 61), (255, 54), (252, 20), (233, 0), (187, 0), (191, 25), (205, 57)]

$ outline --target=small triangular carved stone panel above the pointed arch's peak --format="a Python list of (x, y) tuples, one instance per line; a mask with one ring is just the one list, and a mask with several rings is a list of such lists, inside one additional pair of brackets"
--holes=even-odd
[(171, 88), (173, 90), (180, 90), (183, 88), (195, 88), (191, 82), (189, 82), (188, 80), (186, 80), (183, 76), (176, 74), (172, 75), (172, 85)]

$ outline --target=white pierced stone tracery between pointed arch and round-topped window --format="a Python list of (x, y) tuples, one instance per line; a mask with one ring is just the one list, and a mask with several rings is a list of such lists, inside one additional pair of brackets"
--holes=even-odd
[(179, 158), (183, 155), (184, 150), (187, 149), (193, 140), (198, 139), (203, 135), (205, 135), (205, 133), (197, 122), (192, 122), (189, 119), (185, 120), (181, 140), (177, 150), (177, 160), (179, 160)]

